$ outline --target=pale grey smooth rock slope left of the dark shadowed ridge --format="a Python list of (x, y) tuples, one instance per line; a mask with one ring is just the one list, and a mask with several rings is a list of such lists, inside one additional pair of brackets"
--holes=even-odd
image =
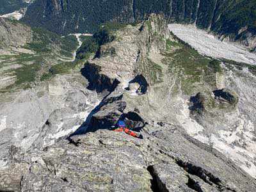
[(1, 95), (8, 99), (0, 111), (1, 168), (8, 164), (12, 145), (23, 150), (44, 148), (75, 132), (99, 104), (100, 97), (87, 90), (86, 84), (81, 74), (67, 74), (19, 95)]

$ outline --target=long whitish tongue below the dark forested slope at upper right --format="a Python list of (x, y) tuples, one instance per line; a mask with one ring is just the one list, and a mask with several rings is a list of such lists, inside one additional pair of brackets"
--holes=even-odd
[(168, 26), (174, 35), (187, 42), (200, 54), (256, 65), (256, 54), (242, 46), (232, 42), (221, 42), (214, 35), (193, 25), (169, 24)]

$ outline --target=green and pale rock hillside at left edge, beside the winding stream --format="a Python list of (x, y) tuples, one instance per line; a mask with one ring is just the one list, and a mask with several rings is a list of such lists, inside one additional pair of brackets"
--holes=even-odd
[[(61, 36), (0, 18), (0, 91), (28, 88), (40, 82), (51, 66), (73, 60), (76, 36)], [(66, 64), (67, 65), (67, 64)], [(34, 84), (31, 84), (34, 83)]]

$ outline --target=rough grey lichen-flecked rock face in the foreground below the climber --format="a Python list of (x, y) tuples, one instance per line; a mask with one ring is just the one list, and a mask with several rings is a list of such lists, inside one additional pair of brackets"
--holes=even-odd
[(26, 154), (29, 164), (22, 166), (26, 171), (20, 190), (255, 190), (253, 179), (234, 169), (215, 150), (207, 152), (204, 145), (186, 139), (178, 127), (145, 133), (144, 140), (113, 131), (73, 136), (71, 140), (62, 140), (36, 155)]

